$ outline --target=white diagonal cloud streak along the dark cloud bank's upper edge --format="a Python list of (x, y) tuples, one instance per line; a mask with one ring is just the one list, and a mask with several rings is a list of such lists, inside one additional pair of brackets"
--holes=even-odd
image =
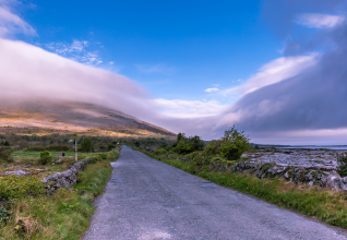
[(251, 79), (247, 81), (239, 80), (238, 82), (243, 82), (242, 85), (220, 91), (220, 94), (225, 96), (243, 96), (261, 87), (278, 83), (283, 80), (297, 75), (303, 69), (313, 65), (318, 58), (318, 53), (311, 53), (309, 56), (283, 57), (275, 59), (263, 65)]

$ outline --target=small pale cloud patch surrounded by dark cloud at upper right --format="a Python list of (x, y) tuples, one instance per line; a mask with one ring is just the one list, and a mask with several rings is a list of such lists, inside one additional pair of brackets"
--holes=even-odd
[(345, 21), (344, 16), (304, 13), (299, 14), (296, 22), (312, 28), (332, 28)]

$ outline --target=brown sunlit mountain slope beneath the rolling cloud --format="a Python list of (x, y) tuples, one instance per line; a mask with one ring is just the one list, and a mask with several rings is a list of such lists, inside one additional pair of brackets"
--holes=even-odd
[[(167, 136), (175, 133), (107, 107), (72, 101), (1, 103), (0, 132), (80, 132), (117, 136)], [(13, 130), (12, 130), (13, 131)]]

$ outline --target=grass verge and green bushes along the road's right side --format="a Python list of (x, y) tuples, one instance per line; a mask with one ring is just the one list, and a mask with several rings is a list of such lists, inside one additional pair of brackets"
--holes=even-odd
[[(254, 175), (232, 172), (230, 170), (232, 165), (247, 160), (241, 158), (243, 152), (256, 151), (255, 147), (251, 148), (248, 136), (235, 127), (225, 131), (220, 140), (212, 141), (204, 147), (201, 147), (202, 143), (200, 137), (186, 137), (184, 134), (179, 134), (175, 144), (158, 148), (155, 153), (140, 151), (219, 185), (312, 216), (330, 225), (347, 228), (347, 194), (345, 192), (297, 184), (278, 177), (259, 179)], [(136, 147), (134, 149), (139, 151)], [(347, 175), (346, 159), (345, 155), (338, 157), (338, 171), (344, 176)]]

